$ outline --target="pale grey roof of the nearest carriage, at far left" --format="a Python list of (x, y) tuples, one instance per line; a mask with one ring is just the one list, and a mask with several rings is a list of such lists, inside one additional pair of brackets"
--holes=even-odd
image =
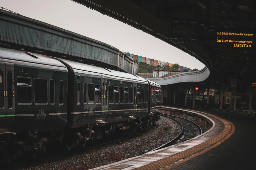
[(59, 67), (66, 67), (60, 61), (46, 55), (30, 53), (21, 50), (12, 50), (0, 47), (0, 58), (14, 61), (23, 61), (35, 64), (53, 65)]

